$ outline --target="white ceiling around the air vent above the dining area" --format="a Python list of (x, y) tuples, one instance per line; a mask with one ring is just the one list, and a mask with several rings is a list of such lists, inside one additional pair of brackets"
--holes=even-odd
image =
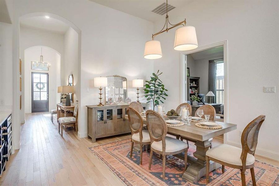
[[(151, 12), (153, 9), (161, 5), (164, 0), (89, 0), (98, 4), (110, 7), (122, 12), (125, 12), (136, 17), (155, 22), (165, 18), (164, 15), (159, 15)], [(168, 0), (168, 4), (176, 7), (171, 11), (175, 11), (178, 7), (184, 7), (190, 0)]]

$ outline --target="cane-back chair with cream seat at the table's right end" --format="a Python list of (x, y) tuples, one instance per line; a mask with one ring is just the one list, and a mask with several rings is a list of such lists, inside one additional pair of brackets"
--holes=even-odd
[(241, 135), (242, 149), (227, 144), (220, 144), (206, 152), (206, 182), (209, 183), (209, 161), (214, 161), (222, 165), (222, 173), (225, 166), (240, 169), (242, 186), (246, 185), (245, 170), (250, 169), (253, 186), (256, 186), (254, 162), (255, 150), (258, 143), (259, 129), (265, 120), (264, 115), (260, 115), (251, 121), (243, 130)]

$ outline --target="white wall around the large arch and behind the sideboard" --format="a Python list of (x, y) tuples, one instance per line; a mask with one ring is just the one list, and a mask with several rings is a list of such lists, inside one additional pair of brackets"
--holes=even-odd
[[(62, 18), (59, 18), (65, 22), (70, 21), (76, 26), (75, 29), (80, 30), (78, 33), (80, 34), (81, 65), (78, 67), (78, 76), (80, 76), (78, 81), (81, 83), (77, 91), (81, 92), (80, 95), (76, 93), (77, 98), (81, 98), (79, 100), (79, 137), (87, 136), (85, 105), (98, 103), (99, 92), (98, 88), (94, 87), (94, 77), (115, 74), (125, 76), (128, 79), (128, 96), (136, 100), (136, 89), (131, 88), (132, 79), (146, 79), (153, 72), (153, 60), (146, 60), (142, 57), (144, 44), (151, 39), (153, 30), (151, 22), (87, 0), (71, 1), (71, 3), (63, 0), (55, 1), (55, 3), (45, 0), (23, 0), (14, 1), (13, 5), (15, 59), (18, 57), (19, 30), (17, 27), (21, 16), (33, 12), (49, 12), (50, 15), (61, 16)], [(73, 14), (73, 12), (78, 12), (78, 14)], [(14, 64), (16, 64), (15, 59)], [(14, 82), (14, 86), (17, 85), (18, 82)], [(89, 92), (86, 92), (87, 87)], [(140, 100), (145, 101), (143, 95)], [(15, 106), (18, 106), (17, 103)]]

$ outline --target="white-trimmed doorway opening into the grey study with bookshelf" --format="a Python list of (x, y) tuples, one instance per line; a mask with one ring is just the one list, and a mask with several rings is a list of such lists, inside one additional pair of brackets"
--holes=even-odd
[(192, 96), (197, 96), (199, 105), (215, 108), (216, 121), (227, 122), (227, 63), (227, 41), (181, 53), (181, 103), (192, 104)]

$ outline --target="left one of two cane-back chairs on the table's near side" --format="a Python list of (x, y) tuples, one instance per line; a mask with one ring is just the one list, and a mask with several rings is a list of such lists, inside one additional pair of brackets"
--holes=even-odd
[(133, 154), (134, 143), (140, 144), (140, 164), (142, 164), (142, 147), (150, 144), (149, 132), (148, 130), (142, 130), (143, 120), (141, 115), (135, 109), (128, 107), (127, 114), (132, 133), (130, 157), (132, 157)]

